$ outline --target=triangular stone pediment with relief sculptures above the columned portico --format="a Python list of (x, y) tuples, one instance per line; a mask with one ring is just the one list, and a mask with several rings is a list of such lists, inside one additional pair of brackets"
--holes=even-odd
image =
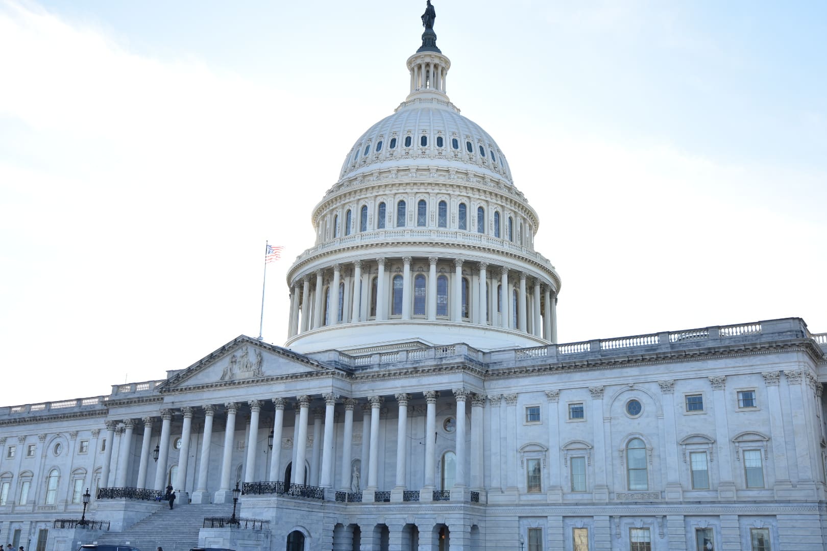
[(185, 387), (283, 379), (332, 371), (335, 370), (303, 354), (241, 335), (189, 368), (175, 373), (158, 390), (164, 392)]

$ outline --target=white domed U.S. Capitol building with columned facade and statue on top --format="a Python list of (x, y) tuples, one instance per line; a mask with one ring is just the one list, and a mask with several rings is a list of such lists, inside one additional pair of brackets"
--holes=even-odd
[(827, 334), (558, 344), (538, 211), (449, 100), (432, 16), (408, 96), (313, 210), (284, 347), (0, 408), (3, 544), (827, 549)]

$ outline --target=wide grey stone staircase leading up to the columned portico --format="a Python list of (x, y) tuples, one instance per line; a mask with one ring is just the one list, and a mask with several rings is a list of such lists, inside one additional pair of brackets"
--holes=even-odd
[(203, 526), (204, 517), (232, 515), (232, 503), (184, 505), (170, 510), (162, 502), (146, 519), (139, 520), (122, 532), (103, 532), (98, 544), (129, 544), (141, 551), (155, 551), (158, 546), (164, 551), (189, 551), (198, 547), (198, 530)]

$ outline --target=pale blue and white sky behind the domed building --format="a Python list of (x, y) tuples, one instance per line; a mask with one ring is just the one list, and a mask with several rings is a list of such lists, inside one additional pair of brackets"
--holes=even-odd
[[(2, 399), (284, 344), (284, 274), (408, 93), (425, 2), (0, 0)], [(447, 93), (538, 211), (571, 342), (827, 332), (827, 3), (434, 0)]]

